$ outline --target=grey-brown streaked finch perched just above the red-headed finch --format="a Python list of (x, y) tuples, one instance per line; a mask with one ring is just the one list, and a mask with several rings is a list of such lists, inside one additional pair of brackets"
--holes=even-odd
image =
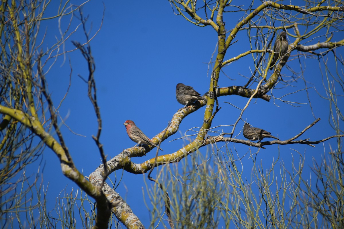
[(186, 86), (182, 83), (178, 83), (175, 89), (175, 96), (177, 101), (186, 107), (187, 105), (195, 102), (196, 100), (204, 100), (207, 99), (200, 96), (201, 94), (195, 91), (192, 87)]

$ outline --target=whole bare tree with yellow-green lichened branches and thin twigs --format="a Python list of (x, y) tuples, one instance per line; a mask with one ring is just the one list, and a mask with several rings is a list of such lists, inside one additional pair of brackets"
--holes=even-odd
[[(207, 101), (196, 101), (178, 110), (171, 118), (170, 125), (162, 129), (152, 141), (159, 145), (162, 141), (171, 138), (178, 131), (184, 117), (206, 106), (203, 123), (200, 123), (200, 128), (194, 135), (195, 139), (190, 139), (187, 145), (180, 147), (174, 153), (149, 157), (147, 153), (151, 148), (139, 145), (125, 149), (107, 161), (100, 142), (102, 119), (94, 78), (96, 63), (89, 44), (94, 35), (91, 36), (87, 32), (87, 17), (84, 17), (80, 8), (85, 3), (69, 7), (66, 4), (68, 1), (61, 3), (57, 15), (44, 18), (42, 12), (46, 10), (49, 2), (2, 1), (0, 148), (1, 162), (6, 166), (0, 170), (1, 219), (9, 220), (9, 214), (25, 206), (26, 214), (31, 217), (36, 214), (35, 208), (38, 209), (41, 227), (53, 228), (56, 222), (60, 222), (63, 227), (76, 228), (74, 208), (77, 205), (76, 200), (80, 198), (82, 204), (78, 208), (79, 212), (85, 213), (85, 216), (80, 213), (85, 228), (92, 226), (108, 228), (114, 221), (111, 216), (115, 216), (127, 228), (144, 228), (130, 206), (108, 184), (109, 174), (124, 169), (133, 174), (150, 172), (148, 178), (153, 181), (151, 183), (153, 185), (147, 186), (151, 191), (149, 197), (154, 206), (150, 209), (152, 228), (160, 224), (171, 228), (217, 228), (220, 220), (226, 227), (235, 225), (240, 228), (299, 228), (300, 226), (319, 228), (343, 225), (344, 211), (341, 201), (343, 201), (344, 189), (341, 178), (344, 171), (341, 143), (344, 135), (339, 126), (344, 119), (340, 105), (337, 103), (337, 97), (342, 94), (338, 91), (334, 92), (332, 87), (325, 88), (328, 92), (328, 97), (325, 99), (333, 105), (330, 111), (330, 125), (336, 130), (337, 134), (334, 136), (312, 141), (297, 140), (319, 122), (320, 119), (316, 117), (314, 122), (305, 125), (300, 133), (295, 133), (295, 136), (287, 140), (255, 143), (239, 139), (234, 135), (252, 99), (271, 101), (272, 98), (292, 104), (283, 100), (283, 96), (275, 98), (268, 94), (271, 90), (277, 90), (278, 84), (283, 85), (280, 89), (283, 90), (291, 87), (292, 82), (296, 80), (295, 77), (283, 75), (283, 71), (287, 69), (292, 73), (298, 71), (289, 67), (290, 60), (299, 60), (300, 70), (305, 74), (301, 57), (318, 59), (320, 66), (325, 67), (326, 73), (332, 74), (336, 83), (340, 85), (340, 90), (343, 91), (342, 76), (337, 71), (343, 66), (343, 60), (337, 54), (337, 50), (342, 49), (344, 39), (334, 38), (337, 37), (335, 33), (343, 32), (343, 4), (336, 1), (328, 3), (307, 1), (304, 5), (298, 6), (266, 1), (258, 5), (252, 3), (248, 6), (236, 6), (225, 0), (208, 2), (169, 0), (169, 2), (174, 13), (183, 16), (186, 21), (197, 26), (212, 27), (218, 43), (214, 54), (209, 54), (212, 56), (209, 61), (209, 69), (211, 69), (209, 90), (204, 95)], [(236, 15), (237, 12), (241, 12), (241, 18), (236, 19), (238, 22), (234, 27), (227, 28), (225, 20), (233, 21), (234, 19), (230, 17), (234, 12)], [(79, 20), (79, 25), (73, 30), (69, 24), (62, 38), (51, 48), (43, 51), (42, 42), (37, 40), (41, 21), (67, 16), (71, 17), (71, 20), (75, 18)], [(73, 50), (63, 50), (60, 53), (60, 48), (78, 28), (83, 30), (87, 42), (82, 44), (75, 41)], [(289, 45), (286, 53), (273, 50), (272, 44), (282, 42), (278, 40), (282, 39), (280, 31), (286, 31), (287, 34)], [(279, 36), (276, 36), (276, 33)], [(248, 49), (237, 56), (230, 56), (231, 46), (243, 37), (248, 37)], [(319, 42), (314, 42), (315, 39)], [(63, 99), (53, 101), (46, 81), (51, 61), (54, 64), (57, 58), (70, 51), (80, 51), (87, 64), (88, 77), (85, 79), (88, 85), (87, 95), (94, 108), (98, 124), (93, 139), (99, 149), (103, 165), (95, 168), (88, 179), (76, 168), (65, 144), (64, 134), (60, 128), (63, 119), (58, 113)], [(336, 69), (327, 68), (326, 61), (330, 55), (336, 61)], [(240, 86), (229, 85), (219, 88), (218, 80), (220, 76), (226, 75), (225, 67), (249, 57), (252, 61), (247, 61), (247, 67), (252, 71), (245, 79), (245, 83)], [(269, 71), (269, 67), (272, 67), (272, 71)], [(295, 75), (306, 82), (302, 74)], [(304, 90), (307, 90), (307, 87)], [(218, 133), (212, 126), (216, 114), (221, 109), (218, 98), (229, 95), (249, 99), (239, 107), (240, 115), (233, 125), (230, 125), (232, 129), (227, 133)], [(187, 137), (190, 136), (184, 136), (185, 139)], [(33, 141), (37, 138), (40, 139), (39, 144)], [(242, 172), (247, 169), (241, 166), (240, 160), (243, 156), (239, 156), (235, 148), (231, 148), (234, 143), (254, 147), (257, 152), (273, 144), (281, 147), (290, 144), (306, 144), (314, 147), (331, 138), (337, 139), (338, 146), (330, 153), (330, 159), (324, 156), (322, 162), (314, 163), (313, 171), (320, 184), (317, 185), (316, 191), (302, 175), (304, 161), (301, 154), (298, 163), (291, 162), (294, 166), (293, 171), (283, 169), (283, 164), (280, 170), (276, 166), (279, 159), (277, 158), (268, 172), (256, 163), (254, 153), (249, 155), (252, 160), (253, 178), (248, 182), (242, 176)], [(35, 205), (26, 202), (23, 198), (18, 201), (18, 196), (15, 195), (16, 186), (20, 182), (29, 183), (27, 190), (20, 193), (22, 197), (32, 193), (34, 188), (38, 190), (37, 193), (41, 192), (36, 178), (30, 180), (24, 174), (15, 182), (13, 179), (15, 180), (26, 165), (37, 160), (46, 146), (56, 154), (62, 173), (80, 188), (76, 196), (73, 192), (65, 194), (65, 201), (61, 201), (56, 206), (57, 211), (61, 210), (58, 219), (47, 216), (44, 196), (38, 196), (39, 202)], [(222, 151), (221, 147), (225, 150)], [(198, 153), (201, 149), (211, 150), (211, 156), (202, 157)], [(146, 161), (142, 163), (131, 161), (133, 157), (143, 156)], [(182, 160), (183, 158), (185, 159)], [(151, 171), (156, 167), (157, 177), (153, 178)], [(277, 171), (280, 174), (278, 181), (275, 175)], [(273, 187), (274, 182), (276, 185)], [(253, 191), (254, 188), (259, 191), (259, 196)], [(88, 199), (88, 196), (92, 200)], [(43, 200), (40, 201), (42, 198)], [(286, 201), (289, 200), (292, 204), (286, 209)], [(92, 201), (95, 201), (95, 204)], [(13, 202), (16, 203), (14, 207), (12, 207)], [(167, 223), (161, 221), (164, 214)], [(13, 226), (13, 220), (9, 225)]]

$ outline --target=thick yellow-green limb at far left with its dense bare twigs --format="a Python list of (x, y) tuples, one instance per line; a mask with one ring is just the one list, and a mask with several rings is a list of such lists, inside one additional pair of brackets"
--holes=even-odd
[[(50, 60), (67, 52), (64, 50), (63, 53), (59, 53), (59, 50), (66, 39), (75, 32), (75, 30), (65, 31), (55, 45), (43, 51), (42, 42), (37, 39), (37, 35), (40, 32), (40, 22), (49, 19), (44, 18), (42, 13), (49, 3), (45, 1), (2, 1), (1, 3), (2, 87), (0, 112), (3, 114), (1, 157), (4, 164), (7, 164), (1, 173), (3, 181), (1, 215), (6, 219), (9, 213), (17, 212), (22, 205), (26, 206), (25, 198), (18, 197), (16, 190), (17, 183), (23, 179), (26, 181), (26, 178), (24, 177), (14, 184), (10, 180), (26, 165), (36, 160), (47, 146), (55, 152), (60, 160), (62, 173), (97, 202), (98, 214), (95, 218), (94, 228), (107, 228), (111, 215), (111, 203), (101, 191), (101, 187), (90, 184), (75, 167), (58, 124), (59, 106), (54, 106), (47, 88), (46, 73), (43, 72), (43, 68), (49, 70), (47, 65)], [(67, 3), (68, 1), (64, 4), (61, 2), (58, 14), (52, 16), (51, 19), (63, 18), (68, 15), (73, 18), (74, 13), (80, 12), (80, 25), (85, 25), (85, 19), (80, 11), (82, 5), (67, 6)], [(92, 39), (92, 37), (87, 38), (88, 41)], [(77, 48), (86, 49), (83, 46), (77, 46)], [(91, 61), (89, 63), (92, 64)], [(92, 66), (89, 70), (88, 82), (91, 91), (91, 88), (94, 87)], [(63, 101), (60, 101), (60, 104), (61, 102)], [(49, 112), (46, 113), (45, 108)], [(56, 138), (50, 134), (51, 131), (56, 133)], [(39, 145), (32, 145), (33, 137), (41, 139)], [(22, 148), (24, 150), (21, 150)], [(25, 196), (35, 184), (36, 181), (29, 185), (27, 191), (22, 191), (21, 195)], [(4, 195), (10, 194), (12, 196), (8, 200)], [(15, 207), (12, 207), (13, 202), (17, 203)], [(33, 207), (34, 204), (30, 204), (27, 207), (28, 211), (32, 211)], [(45, 218), (43, 217), (42, 220)]]

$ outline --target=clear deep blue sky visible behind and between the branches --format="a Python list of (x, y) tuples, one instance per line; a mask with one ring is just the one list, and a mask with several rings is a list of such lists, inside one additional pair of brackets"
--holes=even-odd
[[(73, 1), (72, 1), (73, 2)], [(75, 1), (80, 4), (81, 1)], [(136, 125), (148, 136), (153, 137), (162, 131), (173, 114), (182, 107), (175, 99), (175, 85), (184, 83), (191, 85), (201, 94), (209, 88), (208, 62), (214, 52), (217, 43), (217, 33), (209, 26), (198, 27), (187, 22), (181, 16), (174, 15), (168, 1), (154, 1), (148, 5), (147, 1), (136, 1), (126, 3), (125, 1), (104, 1), (105, 16), (100, 32), (92, 40), (91, 48), (95, 59), (96, 72), (95, 79), (97, 85), (98, 104), (100, 106), (103, 120), (103, 132), (100, 137), (104, 145), (108, 159), (119, 154), (123, 149), (134, 144), (126, 134), (123, 123), (127, 119), (133, 120)], [(104, 6), (100, 1), (90, 1), (83, 8), (84, 15), (88, 15), (87, 26), (90, 34), (94, 34), (101, 23)], [(55, 8), (51, 5), (47, 14), (54, 13)], [(235, 15), (238, 15), (235, 18)], [(225, 18), (227, 30), (233, 28), (240, 19), (240, 13)], [(92, 22), (92, 25), (91, 25)], [(65, 21), (64, 21), (65, 23)], [(76, 24), (73, 23), (75, 26)], [(46, 27), (47, 26), (47, 27)], [(41, 24), (41, 32), (47, 28), (47, 36), (44, 45), (49, 47), (55, 41), (55, 36), (59, 37), (57, 20), (44, 21)], [(64, 24), (62, 28), (65, 28)], [(290, 31), (293, 33), (293, 31)], [(339, 36), (335, 34), (335, 38)], [(250, 49), (247, 43), (247, 32), (241, 32), (237, 36), (238, 42), (228, 49), (226, 58), (237, 56)], [(289, 37), (293, 41), (292, 37)], [(324, 38), (319, 38), (321, 41)], [(71, 40), (85, 42), (82, 31), (75, 33)], [(316, 43), (317, 39), (313, 40)], [(311, 44), (313, 44), (311, 42)], [(66, 42), (66, 49), (71, 49), (71, 41)], [(343, 54), (343, 49), (338, 48), (337, 52)], [(294, 53), (295, 54), (295, 53)], [(97, 131), (97, 120), (93, 107), (87, 98), (87, 84), (78, 75), (87, 78), (87, 65), (79, 51), (68, 53), (65, 58), (56, 61), (50, 72), (47, 74), (49, 91), (55, 106), (63, 98), (68, 88), (71, 60), (72, 80), (71, 88), (67, 98), (63, 102), (60, 115), (65, 119), (65, 123), (77, 134), (71, 133), (62, 126), (62, 132), (66, 145), (72, 154), (77, 168), (88, 176), (101, 163), (99, 152), (94, 144), (92, 135)], [(322, 76), (319, 72), (319, 64), (316, 59), (301, 58), (305, 66), (305, 78), (309, 89), (313, 112), (316, 118), (322, 120), (312, 129), (302, 135), (302, 139), (320, 140), (327, 136), (335, 135), (335, 131), (329, 125), (329, 102), (321, 99), (316, 90), (325, 95)], [(298, 60), (291, 60), (288, 65), (295, 67), (299, 65)], [(253, 68), (252, 57), (247, 56), (239, 61), (233, 62), (224, 68), (225, 73), (230, 77), (221, 75), (219, 79), (220, 87), (231, 85), (244, 85), (246, 77), (250, 76), (250, 68)], [(300, 68), (295, 70), (300, 74)], [(292, 76), (292, 73), (283, 68), (282, 73)], [(233, 80), (232, 80), (233, 79)], [(273, 89), (274, 96), (281, 97), (285, 94), (295, 92), (305, 88), (302, 79), (292, 82), (292, 87), (280, 90)], [(277, 88), (282, 87), (278, 85)], [(251, 88), (255, 88), (251, 87)], [(271, 93), (269, 92), (269, 95)], [(253, 100), (243, 115), (243, 119), (253, 126), (263, 128), (285, 140), (291, 138), (303, 130), (314, 121), (311, 108), (308, 105), (307, 94), (300, 91), (286, 96), (284, 99), (307, 104), (298, 104), (297, 107), (282, 103), (278, 100), (266, 102), (263, 100)], [(248, 98), (241, 98), (236, 95), (218, 98), (219, 106), (222, 109), (216, 115), (212, 126), (231, 125), (236, 121), (240, 111), (229, 102), (240, 108), (244, 107)], [(338, 104), (343, 102), (343, 98), (338, 98)], [(343, 104), (343, 103), (342, 103)], [(180, 133), (176, 133), (169, 139), (162, 142), (163, 153), (173, 153), (184, 145), (182, 139), (170, 142), (181, 137), (187, 129), (200, 127), (203, 123), (203, 111), (205, 107), (187, 116), (180, 125)], [(237, 138), (244, 139), (239, 122), (235, 130)], [(218, 131), (229, 132), (232, 127), (218, 127)], [(84, 137), (85, 136), (85, 137)], [(229, 136), (228, 136), (229, 137)], [(219, 144), (221, 145), (221, 144)], [(223, 144), (222, 144), (223, 145)], [(232, 143), (228, 147), (233, 147)], [(287, 164), (291, 161), (294, 150), (304, 154), (306, 164), (312, 165), (312, 158), (320, 160), (324, 153), (329, 151), (329, 146), (336, 146), (336, 140), (318, 144), (315, 148), (306, 145), (284, 145), (268, 146), (261, 149), (257, 155), (257, 160), (262, 161), (266, 169), (271, 165), (273, 158), (277, 157), (278, 148), (280, 150), (280, 161)], [(251, 150), (256, 152), (256, 148), (235, 144), (236, 149), (243, 155)], [(325, 148), (325, 149), (324, 149)], [(205, 151), (205, 149), (204, 149)], [(159, 155), (162, 152), (159, 152)], [(155, 151), (151, 151), (146, 157), (133, 158), (136, 163), (144, 162), (153, 157)], [(295, 155), (294, 155), (295, 156)], [(44, 183), (49, 182), (48, 206), (55, 205), (55, 197), (66, 187), (67, 192), (74, 191), (76, 186), (62, 175), (60, 163), (55, 154), (46, 149), (43, 155), (46, 164), (43, 179)], [(247, 177), (251, 173), (251, 164), (248, 157), (243, 159), (243, 165), (247, 162)], [(289, 165), (290, 166), (290, 165)], [(288, 166), (287, 166), (288, 167)], [(291, 168), (291, 167), (289, 167)], [(310, 174), (307, 167), (305, 174)], [(30, 165), (28, 171), (34, 173), (36, 167)], [(119, 178), (122, 171), (116, 171)], [(141, 219), (145, 226), (149, 225), (149, 215), (142, 199), (142, 187), (145, 188), (144, 175), (134, 175), (124, 172), (123, 179), (116, 189), (131, 206), (133, 212)], [(115, 175), (110, 178), (115, 180)], [(69, 190), (69, 191), (68, 191)]]

